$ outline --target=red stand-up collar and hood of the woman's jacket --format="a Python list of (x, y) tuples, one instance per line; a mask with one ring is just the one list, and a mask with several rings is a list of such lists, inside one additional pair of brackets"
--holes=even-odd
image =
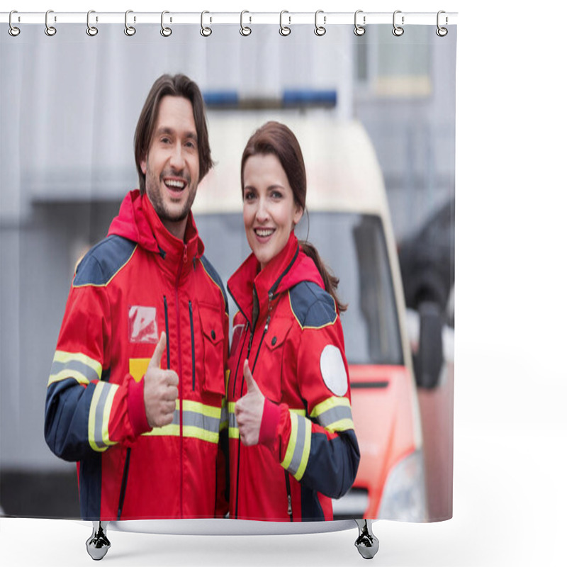
[(272, 258), (264, 269), (254, 254), (250, 254), (228, 280), (228, 291), (237, 307), (252, 322), (254, 313), (254, 293), (259, 313), (267, 309), (269, 301), (288, 291), (300, 281), (313, 281), (323, 286), (322, 278), (315, 263), (305, 255), (294, 232), (281, 252)]

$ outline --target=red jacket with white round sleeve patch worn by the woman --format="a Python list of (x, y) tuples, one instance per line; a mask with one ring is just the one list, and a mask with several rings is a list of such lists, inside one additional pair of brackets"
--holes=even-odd
[[(293, 232), (262, 271), (251, 254), (228, 288), (240, 309), (229, 358), (230, 517), (332, 520), (330, 498), (351, 487), (360, 458), (335, 301)], [(234, 414), (245, 359), (269, 400), (252, 447)]]

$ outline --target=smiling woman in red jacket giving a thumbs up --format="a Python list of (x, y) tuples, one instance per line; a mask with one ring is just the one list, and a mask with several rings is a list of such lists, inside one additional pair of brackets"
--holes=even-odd
[(359, 448), (340, 311), (312, 245), (293, 228), (305, 210), (305, 165), (285, 125), (249, 139), (241, 164), (252, 254), (228, 281), (234, 320), (228, 381), (230, 517), (332, 520)]

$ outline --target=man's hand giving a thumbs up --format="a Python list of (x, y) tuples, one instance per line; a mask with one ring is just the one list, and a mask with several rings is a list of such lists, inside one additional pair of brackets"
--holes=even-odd
[(177, 384), (179, 377), (173, 370), (162, 370), (159, 362), (162, 360), (167, 339), (165, 333), (159, 337), (154, 354), (147, 365), (144, 378), (144, 404), (146, 407), (147, 423), (150, 427), (163, 427), (173, 421), (175, 400), (179, 396)]

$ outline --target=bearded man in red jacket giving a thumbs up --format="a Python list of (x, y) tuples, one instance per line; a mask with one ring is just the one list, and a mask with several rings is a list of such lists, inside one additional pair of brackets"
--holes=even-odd
[(45, 439), (78, 461), (84, 519), (222, 516), (228, 304), (191, 213), (212, 161), (188, 77), (152, 86), (135, 159), (140, 190), (74, 275)]

